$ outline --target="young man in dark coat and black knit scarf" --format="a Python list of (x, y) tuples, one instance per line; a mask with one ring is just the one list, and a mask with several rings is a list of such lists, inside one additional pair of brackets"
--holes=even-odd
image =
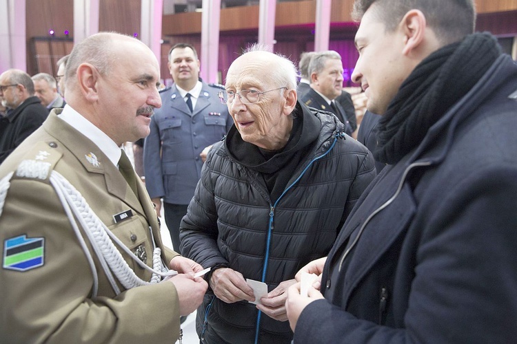
[(352, 80), (387, 166), (321, 275), (288, 291), (294, 343), (514, 343), (517, 65), (472, 0), (356, 0)]

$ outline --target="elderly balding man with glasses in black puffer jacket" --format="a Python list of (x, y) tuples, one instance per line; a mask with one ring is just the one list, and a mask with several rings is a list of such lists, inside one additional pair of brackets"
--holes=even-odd
[(202, 343), (290, 343), (285, 292), (327, 255), (374, 160), (335, 116), (298, 102), (283, 56), (252, 47), (219, 96), (234, 125), (208, 153), (180, 227), (182, 254), (212, 268), (196, 330)]

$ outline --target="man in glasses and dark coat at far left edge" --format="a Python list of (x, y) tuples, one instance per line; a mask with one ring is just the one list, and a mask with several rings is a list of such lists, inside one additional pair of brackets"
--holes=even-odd
[(7, 114), (0, 118), (0, 164), (48, 116), (48, 109), (34, 96), (29, 74), (8, 69), (0, 75), (0, 100)]

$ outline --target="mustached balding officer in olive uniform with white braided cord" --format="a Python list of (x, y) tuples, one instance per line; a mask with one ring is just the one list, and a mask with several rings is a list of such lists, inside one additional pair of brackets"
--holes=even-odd
[(207, 290), (203, 268), (163, 247), (121, 151), (161, 105), (158, 62), (100, 33), (75, 45), (65, 78), (68, 105), (0, 166), (0, 341), (174, 343)]

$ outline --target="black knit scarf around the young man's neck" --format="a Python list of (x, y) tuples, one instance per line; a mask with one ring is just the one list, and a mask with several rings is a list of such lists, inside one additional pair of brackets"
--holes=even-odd
[(478, 82), (501, 54), (491, 34), (476, 33), (427, 56), (401, 85), (378, 122), (374, 157), (396, 164)]

